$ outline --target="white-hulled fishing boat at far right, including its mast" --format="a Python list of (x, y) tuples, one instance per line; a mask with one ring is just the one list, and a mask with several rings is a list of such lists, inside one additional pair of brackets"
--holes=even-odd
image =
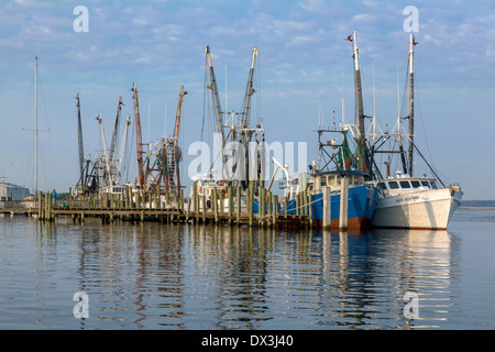
[[(431, 229), (446, 230), (452, 215), (460, 206), (463, 193), (459, 184), (446, 185), (435, 169), (430, 166), (414, 141), (414, 47), (418, 44), (410, 35), (408, 55), (408, 86), (409, 86), (409, 111), (406, 118), (398, 118), (396, 145), (398, 150), (391, 151), (400, 156), (402, 170), (395, 176), (389, 174), (389, 162), (386, 162), (386, 177), (375, 177), (369, 184), (381, 189), (381, 198), (371, 221), (376, 228), (404, 228), (404, 229)], [(408, 134), (402, 133), (402, 121), (408, 121)], [(391, 138), (391, 135), (388, 136)], [(370, 139), (375, 141), (375, 139)], [(408, 143), (408, 151), (403, 147), (403, 140)], [(371, 157), (375, 153), (384, 152), (375, 150), (371, 145)], [(422, 157), (435, 177), (414, 176), (414, 156), (416, 153)], [(386, 151), (385, 151), (386, 153)], [(380, 173), (374, 173), (380, 175)]]

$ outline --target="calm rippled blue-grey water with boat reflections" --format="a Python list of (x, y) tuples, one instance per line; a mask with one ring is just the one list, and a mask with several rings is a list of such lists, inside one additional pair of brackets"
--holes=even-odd
[(495, 329), (494, 248), (495, 210), (365, 234), (6, 217), (0, 329)]

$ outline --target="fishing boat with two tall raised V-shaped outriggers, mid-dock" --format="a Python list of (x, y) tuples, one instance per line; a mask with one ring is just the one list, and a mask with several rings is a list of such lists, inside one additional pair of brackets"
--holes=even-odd
[[(251, 118), (252, 98), (257, 91), (254, 88), (254, 74), (260, 53), (256, 47), (253, 47), (242, 109), (239, 112), (227, 111), (227, 91), (226, 111), (222, 110), (209, 45), (206, 46), (205, 54), (207, 73), (205, 75), (205, 97), (208, 97), (208, 101), (205, 100), (202, 127), (206, 124), (206, 118), (212, 120), (211, 134), (215, 155), (208, 170), (193, 177), (195, 184), (191, 187), (190, 197), (193, 198), (195, 194), (199, 196), (199, 209), (210, 209), (215, 198), (220, 201), (220, 208), (223, 208), (227, 206), (228, 188), (231, 187), (232, 195), (241, 200), (241, 209), (246, 209), (245, 190), (249, 182), (255, 182), (257, 191), (257, 185), (263, 179), (264, 129), (261, 123), (254, 125)], [(260, 117), (257, 118), (260, 121)], [(201, 129), (201, 141), (202, 138), (204, 130)], [(204, 196), (205, 200), (202, 200)]]

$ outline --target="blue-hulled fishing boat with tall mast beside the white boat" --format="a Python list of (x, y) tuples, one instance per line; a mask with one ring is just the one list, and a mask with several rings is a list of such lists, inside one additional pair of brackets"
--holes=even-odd
[[(341, 123), (340, 128), (336, 124), (318, 128), (318, 155), (310, 166), (308, 182), (304, 179), (299, 186), (310, 196), (311, 220), (315, 228), (367, 229), (380, 200), (380, 190), (370, 183), (372, 176), (366, 164), (360, 59), (355, 36), (353, 42), (355, 105), (358, 130), (361, 133), (358, 134), (356, 145), (352, 151), (348, 140), (350, 125)], [(326, 141), (328, 134), (336, 133), (337, 138)], [(299, 179), (298, 183), (300, 182)], [(297, 210), (297, 199), (289, 200), (287, 213), (296, 213)]]

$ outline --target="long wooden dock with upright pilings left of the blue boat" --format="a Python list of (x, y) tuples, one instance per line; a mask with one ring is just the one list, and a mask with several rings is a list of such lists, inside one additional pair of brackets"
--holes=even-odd
[[(3, 201), (0, 204), (0, 213), (24, 215), (37, 217), (40, 221), (55, 221), (59, 217), (70, 217), (74, 222), (84, 222), (87, 218), (99, 218), (103, 223), (114, 221), (158, 221), (163, 223), (217, 223), (230, 226), (249, 226), (280, 229), (311, 228), (311, 210), (309, 202), (300, 196), (296, 215), (278, 213), (278, 197), (266, 190), (262, 196), (266, 199), (260, 204), (260, 213), (253, 211), (254, 195), (248, 190), (248, 205), (241, 207), (240, 199), (226, 195), (213, 201), (210, 207), (205, 207), (206, 199), (194, 195), (185, 199), (180, 195), (166, 195), (165, 201), (161, 201), (157, 195), (107, 194), (102, 198), (90, 195), (85, 198), (70, 198), (54, 201), (50, 194), (38, 193), (36, 201)], [(132, 199), (132, 201), (131, 201)], [(223, 199), (223, 201), (222, 201)], [(282, 200), (280, 205), (286, 200)], [(195, 211), (194, 209), (198, 209)]]

